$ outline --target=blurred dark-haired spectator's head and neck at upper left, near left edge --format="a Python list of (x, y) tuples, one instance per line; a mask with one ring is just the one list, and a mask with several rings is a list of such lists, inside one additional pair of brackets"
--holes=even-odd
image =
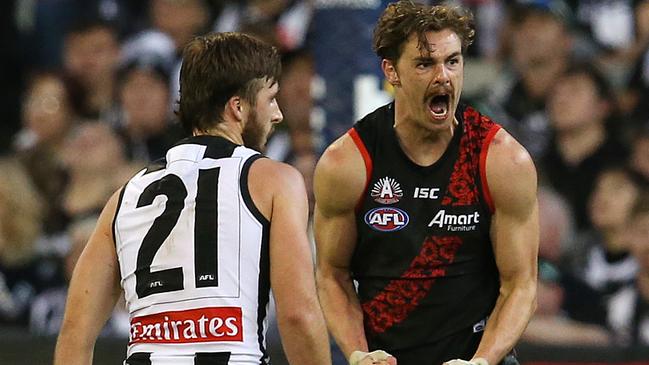
[(83, 90), (81, 115), (107, 120), (115, 101), (119, 62), (116, 30), (98, 19), (82, 19), (65, 34), (63, 67)]

